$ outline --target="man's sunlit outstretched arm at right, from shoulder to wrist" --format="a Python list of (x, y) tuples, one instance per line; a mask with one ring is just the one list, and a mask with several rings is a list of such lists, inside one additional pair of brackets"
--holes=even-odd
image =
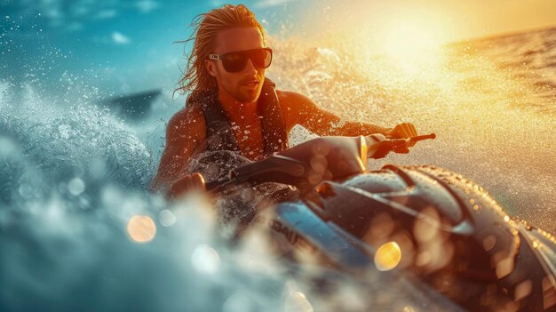
[(344, 122), (340, 117), (319, 108), (313, 100), (298, 92), (277, 92), (288, 132), (296, 124), (321, 136), (357, 136), (371, 133), (390, 135), (393, 132), (393, 129), (375, 124)]

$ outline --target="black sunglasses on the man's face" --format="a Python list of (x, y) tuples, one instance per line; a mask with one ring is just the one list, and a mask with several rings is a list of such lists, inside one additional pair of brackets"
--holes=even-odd
[(222, 60), (222, 65), (228, 73), (237, 73), (245, 68), (249, 59), (258, 68), (268, 68), (272, 63), (272, 49), (262, 48), (226, 54), (209, 54), (209, 59)]

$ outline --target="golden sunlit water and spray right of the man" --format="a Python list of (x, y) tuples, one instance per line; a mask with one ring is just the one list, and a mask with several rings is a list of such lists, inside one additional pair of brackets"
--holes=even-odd
[[(452, 44), (411, 68), (349, 39), (317, 38), (318, 47), (295, 39), (271, 43), (278, 49), (267, 75), (348, 120), (409, 121), (418, 132), (437, 134), (408, 156), (388, 156), (369, 168), (448, 168), (481, 184), (510, 214), (556, 232), (556, 87), (539, 86), (554, 78), (556, 29)], [(539, 40), (547, 51), (530, 52)], [(521, 65), (508, 68), (509, 60)]]

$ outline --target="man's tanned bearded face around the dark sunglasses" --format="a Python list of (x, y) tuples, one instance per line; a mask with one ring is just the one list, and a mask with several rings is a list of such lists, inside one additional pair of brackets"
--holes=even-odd
[[(230, 28), (218, 33), (215, 54), (240, 52), (265, 47), (263, 37), (258, 28)], [(235, 100), (251, 103), (258, 100), (263, 82), (265, 69), (256, 67), (252, 60), (237, 73), (227, 72), (222, 60), (206, 60), (205, 64), (211, 76), (217, 80), (218, 91), (227, 92)]]

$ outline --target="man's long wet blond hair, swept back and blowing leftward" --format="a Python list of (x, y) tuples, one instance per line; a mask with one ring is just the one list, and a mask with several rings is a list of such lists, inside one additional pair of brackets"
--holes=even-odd
[[(187, 44), (194, 41), (193, 49), (187, 57), (187, 67), (179, 79), (179, 87), (174, 92), (185, 94), (217, 90), (216, 80), (210, 76), (205, 67), (204, 60), (209, 58), (216, 44), (218, 32), (229, 28), (258, 28), (263, 42), (265, 41), (264, 29), (255, 19), (255, 14), (245, 5), (225, 4), (209, 12), (195, 16), (191, 27), (192, 35), (179, 43)], [(185, 49), (185, 47), (184, 47)]]

